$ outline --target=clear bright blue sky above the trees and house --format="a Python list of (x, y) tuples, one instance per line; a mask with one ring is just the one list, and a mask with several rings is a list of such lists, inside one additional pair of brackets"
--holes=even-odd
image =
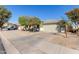
[(59, 20), (62, 17), (67, 19), (65, 13), (73, 8), (79, 8), (78, 5), (6, 5), (12, 12), (9, 22), (18, 23), (19, 16), (36, 16), (42, 21)]

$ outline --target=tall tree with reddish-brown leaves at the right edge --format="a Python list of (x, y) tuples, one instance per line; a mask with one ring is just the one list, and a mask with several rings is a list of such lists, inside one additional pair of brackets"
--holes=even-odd
[(71, 20), (74, 24), (75, 30), (78, 29), (78, 22), (79, 22), (79, 9), (75, 8), (71, 11), (66, 12), (66, 15), (69, 20)]

